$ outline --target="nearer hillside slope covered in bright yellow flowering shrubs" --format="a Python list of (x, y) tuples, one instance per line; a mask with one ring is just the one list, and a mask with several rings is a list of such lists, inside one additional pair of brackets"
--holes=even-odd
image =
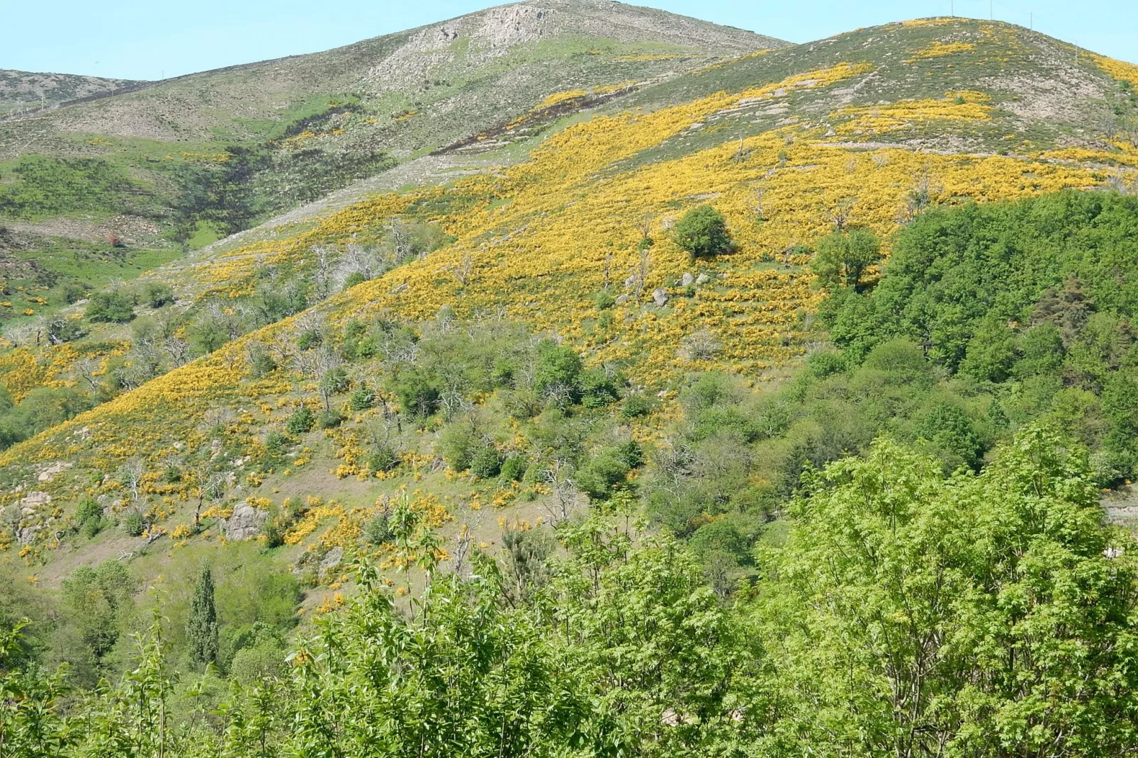
[[(954, 43), (960, 47), (943, 51), (941, 46)], [(209, 432), (199, 420), (216, 409), (232, 414), (226, 444), (234, 458), (255, 451), (261, 430), (280, 423), (305, 393), (286, 371), (251, 379), (245, 344), (288, 338), (297, 322), (321, 319), (421, 319), (443, 305), (460, 315), (504, 310), (559, 332), (591, 362), (621, 365), (652, 389), (667, 392), (685, 372), (710, 368), (754, 381), (775, 377), (817, 338), (808, 314), (818, 295), (805, 270), (808, 256), (793, 246), (825, 233), (835, 213), (888, 234), (923, 176), (935, 200), (988, 200), (1094, 188), (1135, 165), (1132, 145), (1095, 129), (1096, 115), (1113, 112), (1125, 90), (1089, 56), (1080, 53), (1075, 63), (1071, 50), (1067, 65), (1059, 56), (1067, 50), (1015, 27), (978, 22), (861, 30), (645, 88), (633, 96), (640, 110), (571, 125), (501, 175), (381, 196), (296, 237), (203, 258), (192, 275), (217, 291), (237, 293), (258, 266), (274, 259), (300, 265), (311, 245), (366, 233), (391, 215), (437, 217), (457, 237), (422, 262), (11, 448), (0, 458), (6, 484), (32, 484), (39, 468), (63, 460), (73, 468), (33, 486), (58, 503), (84, 491), (112, 494), (113, 485), (92, 484), (94, 475), (132, 455), (157, 471), (175, 450), (183, 458), (208, 450)], [(1056, 83), (1083, 97), (1066, 121), (1030, 100)], [(1024, 99), (1031, 108), (1016, 105)], [(1008, 134), (1017, 137), (1004, 139)], [(739, 250), (691, 266), (663, 230), (669, 219), (709, 199), (727, 215)], [(592, 296), (605, 279), (615, 294), (625, 290), (625, 278), (638, 265), (634, 247), (642, 219), (658, 240), (645, 291), (602, 319)], [(471, 273), (463, 283), (455, 272), (464, 266)], [(675, 286), (685, 271), (711, 279), (690, 293)], [(178, 275), (185, 278), (187, 269)], [(670, 297), (667, 307), (651, 304), (648, 294), (658, 287)], [(685, 341), (698, 332), (721, 345), (712, 360), (683, 357)], [(51, 359), (66, 366), (67, 349), (26, 371), (48, 376)], [(644, 430), (648, 439), (652, 434)], [(241, 494), (344, 489), (335, 475), (323, 473), (343, 443), (319, 435), (311, 442), (318, 458), (304, 477), (248, 481)], [(398, 484), (353, 483), (352, 499), (366, 502)], [(156, 493), (162, 489), (155, 485)], [(165, 489), (174, 500), (184, 496), (176, 486)], [(36, 518), (52, 520), (47, 512)]]

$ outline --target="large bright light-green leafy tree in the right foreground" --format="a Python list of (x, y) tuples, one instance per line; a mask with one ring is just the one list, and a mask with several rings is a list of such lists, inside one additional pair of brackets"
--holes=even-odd
[(808, 480), (759, 603), (784, 733), (820, 755), (1121, 755), (1138, 562), (1086, 455), (1029, 428), (981, 475), (887, 439)]

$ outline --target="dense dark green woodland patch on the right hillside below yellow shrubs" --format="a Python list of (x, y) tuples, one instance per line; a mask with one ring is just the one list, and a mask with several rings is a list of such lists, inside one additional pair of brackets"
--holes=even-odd
[[(990, 392), (1004, 427), (1066, 419), (1113, 461), (1102, 469), (1111, 484), (1138, 470), (1131, 406), (1116, 392), (1138, 378), (1136, 232), (1138, 200), (1105, 192), (929, 211), (898, 233), (873, 291), (835, 291), (823, 320), (850, 363), (899, 337), (920, 346), (950, 377)], [(1064, 388), (1090, 394), (1081, 417)], [(922, 423), (953, 427), (920, 434), (976, 465), (986, 434), (974, 420)]]

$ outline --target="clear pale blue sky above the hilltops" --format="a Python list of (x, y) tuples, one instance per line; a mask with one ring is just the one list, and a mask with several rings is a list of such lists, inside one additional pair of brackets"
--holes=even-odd
[[(314, 52), (460, 16), (493, 0), (0, 0), (0, 68), (159, 79)], [(652, 0), (636, 2), (807, 42), (921, 16), (996, 18), (1138, 63), (1135, 0)]]

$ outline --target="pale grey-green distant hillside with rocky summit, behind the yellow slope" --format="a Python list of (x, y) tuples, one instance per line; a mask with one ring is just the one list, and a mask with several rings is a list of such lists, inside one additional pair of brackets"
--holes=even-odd
[[(73, 208), (33, 208), (7, 221), (0, 211), (0, 226), (50, 238), (44, 245), (52, 248), (67, 247), (68, 238), (98, 247), (112, 233), (138, 256), (168, 258), (163, 252), (175, 223), (175, 180), (190, 165), (221, 165), (216, 157), (231, 146), (264, 156), (250, 184), (256, 221), (500, 127), (559, 91), (654, 81), (780, 44), (652, 9), (541, 0), (325, 52), (167, 80), (0, 122), (0, 190), (34, 156), (106, 162), (131, 184), (113, 196), (96, 189), (83, 196), (83, 181), (58, 171), (56, 187), (81, 195)], [(79, 94), (75, 86), (67, 92)], [(188, 244), (197, 248), (217, 237), (216, 224), (199, 224)], [(52, 265), (58, 256), (46, 258)], [(58, 273), (76, 269), (79, 255)], [(57, 291), (40, 295), (59, 299)], [(23, 312), (9, 314), (9, 322), (18, 324)]]

